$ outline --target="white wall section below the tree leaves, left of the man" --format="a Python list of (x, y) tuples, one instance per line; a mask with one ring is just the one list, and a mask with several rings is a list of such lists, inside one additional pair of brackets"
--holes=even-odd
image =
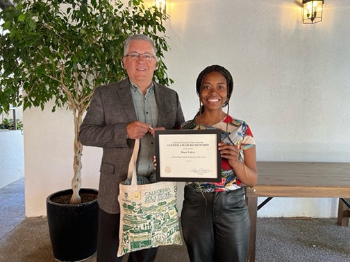
[[(50, 105), (24, 111), (24, 170), (26, 216), (46, 216), (46, 198), (51, 193), (71, 189), (73, 177), (73, 116), (70, 111)], [(83, 187), (98, 189), (100, 148), (83, 149)]]

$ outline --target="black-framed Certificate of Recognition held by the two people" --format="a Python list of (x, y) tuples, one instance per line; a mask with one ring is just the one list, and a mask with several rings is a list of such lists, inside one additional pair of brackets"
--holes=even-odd
[(221, 130), (156, 130), (157, 181), (221, 182)]

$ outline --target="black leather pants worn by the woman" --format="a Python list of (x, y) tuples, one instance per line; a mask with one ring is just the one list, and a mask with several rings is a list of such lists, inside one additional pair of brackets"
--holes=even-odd
[(183, 238), (192, 262), (245, 262), (250, 220), (244, 189), (196, 193), (185, 186)]

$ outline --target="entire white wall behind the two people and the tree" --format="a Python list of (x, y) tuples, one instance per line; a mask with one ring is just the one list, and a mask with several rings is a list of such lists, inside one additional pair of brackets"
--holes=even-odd
[[(324, 20), (303, 25), (298, 1), (169, 1), (165, 64), (185, 118), (199, 107), (199, 72), (221, 64), (235, 82), (230, 112), (251, 125), (258, 161), (349, 162), (349, 12), (350, 1), (328, 0)], [(47, 195), (70, 186), (72, 116), (28, 110), (24, 125), (26, 216), (45, 216)], [(100, 160), (85, 147), (84, 187), (98, 187)], [(275, 198), (258, 216), (334, 217), (337, 204)]]

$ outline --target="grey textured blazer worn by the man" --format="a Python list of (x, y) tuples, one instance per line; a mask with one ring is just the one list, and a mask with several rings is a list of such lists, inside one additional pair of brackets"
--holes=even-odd
[[(153, 82), (158, 105), (158, 127), (178, 129), (185, 121), (178, 94)], [(126, 139), (126, 125), (137, 121), (128, 79), (98, 87), (81, 124), (79, 139), (84, 146), (103, 148), (99, 180), (99, 207), (119, 213), (119, 183), (126, 180), (133, 152), (133, 139)]]

